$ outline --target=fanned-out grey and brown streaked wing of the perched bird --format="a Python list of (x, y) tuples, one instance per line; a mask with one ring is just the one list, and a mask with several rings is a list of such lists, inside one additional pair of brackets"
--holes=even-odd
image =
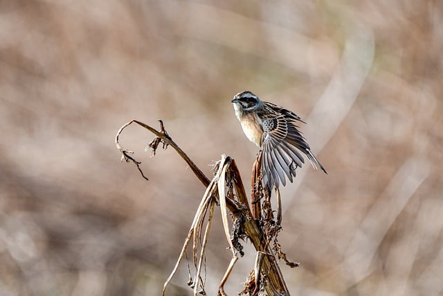
[(303, 122), (293, 112), (271, 103), (265, 103), (264, 112), (258, 114), (262, 120), (263, 134), (260, 141), (262, 148), (262, 175), (264, 186), (269, 189), (279, 188), (280, 182), (286, 185), (286, 177), (292, 182), (296, 168), (305, 163), (300, 151), (304, 153), (314, 168), (325, 168), (318, 162), (309, 148), (309, 144), (298, 130), (297, 121)]

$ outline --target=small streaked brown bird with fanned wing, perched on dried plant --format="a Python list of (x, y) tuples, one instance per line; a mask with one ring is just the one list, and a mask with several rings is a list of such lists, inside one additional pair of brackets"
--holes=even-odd
[(232, 101), (235, 115), (249, 141), (262, 150), (264, 188), (278, 189), (296, 176), (296, 168), (305, 163), (304, 153), (315, 169), (325, 168), (311, 152), (309, 144), (298, 130), (298, 122), (305, 123), (293, 112), (273, 103), (263, 102), (247, 90), (236, 94)]

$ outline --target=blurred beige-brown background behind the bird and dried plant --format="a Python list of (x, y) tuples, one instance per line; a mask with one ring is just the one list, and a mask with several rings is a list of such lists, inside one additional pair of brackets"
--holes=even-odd
[[(132, 125), (146, 182), (115, 134), (163, 119), (206, 175), (227, 154), (248, 184), (244, 89), (306, 121), (328, 171), (282, 189), (291, 294), (442, 295), (442, 52), (441, 1), (1, 1), (0, 295), (159, 295), (204, 187)], [(217, 212), (208, 295), (227, 246)], [(182, 263), (167, 295), (186, 281)]]

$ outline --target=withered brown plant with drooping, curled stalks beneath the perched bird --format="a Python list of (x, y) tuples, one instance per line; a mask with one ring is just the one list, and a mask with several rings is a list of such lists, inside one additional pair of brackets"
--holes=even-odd
[[(141, 171), (139, 166), (141, 163), (137, 162), (134, 157), (131, 157), (129, 154), (132, 154), (132, 152), (124, 149), (119, 143), (119, 135), (121, 132), (123, 132), (123, 130), (131, 123), (137, 123), (156, 135), (156, 138), (148, 145), (148, 148), (152, 148), (152, 156), (155, 155), (156, 148), (158, 148), (160, 143), (163, 143), (164, 149), (168, 146), (172, 146), (172, 148), (179, 153), (183, 160), (185, 160), (200, 182), (206, 186), (206, 191), (201, 199), (194, 220), (191, 223), (188, 236), (186, 236), (185, 242), (183, 243), (177, 263), (175, 264), (170, 277), (168, 277), (163, 285), (163, 295), (165, 295), (166, 286), (168, 286), (172, 277), (177, 272), (179, 264), (183, 258), (186, 258), (186, 250), (188, 249), (190, 241), (192, 241), (192, 261), (195, 266), (195, 276), (194, 280), (190, 279), (188, 284), (194, 288), (194, 295), (206, 295), (201, 272), (205, 260), (205, 251), (206, 244), (208, 242), (210, 225), (213, 220), (213, 211), (217, 201), (220, 205), (226, 241), (228, 242), (230, 251), (233, 255), (228, 268), (226, 269), (225, 275), (223, 279), (221, 279), (218, 295), (226, 295), (226, 293), (224, 293), (224, 284), (228, 280), (235, 262), (238, 260), (237, 252), (240, 254), (240, 256), (243, 254), (242, 245), (239, 243), (239, 238), (244, 239), (246, 237), (251, 240), (255, 250), (257, 250), (257, 261), (253, 272), (255, 275), (253, 284), (254, 288), (253, 290), (248, 290), (249, 295), (257, 295), (262, 288), (264, 288), (268, 295), (289, 295), (289, 290), (284, 283), (282, 273), (276, 260), (276, 258), (282, 258), (286, 261), (286, 256), (283, 257), (281, 255), (284, 253), (280, 251), (280, 245), (278, 245), (278, 249), (275, 248), (275, 250), (278, 252), (278, 257), (276, 257), (273, 250), (269, 246), (269, 242), (272, 239), (275, 243), (277, 243), (276, 236), (281, 227), (278, 224), (275, 226), (275, 221), (273, 220), (272, 208), (270, 204), (270, 191), (263, 190), (261, 187), (261, 153), (257, 155), (257, 160), (254, 165), (255, 171), (253, 174), (253, 180), (251, 181), (251, 185), (253, 186), (251, 193), (252, 202), (253, 204), (254, 202), (256, 203), (254, 206), (256, 216), (254, 216), (251, 212), (251, 208), (249, 207), (242, 178), (240, 177), (239, 170), (234, 159), (229, 156), (222, 155), (221, 160), (217, 162), (215, 166), (215, 170), (217, 172), (215, 173), (213, 180), (210, 181), (194, 164), (194, 162), (192, 162), (188, 155), (186, 155), (186, 153), (184, 153), (183, 150), (181, 150), (181, 148), (179, 148), (179, 146), (172, 141), (172, 138), (165, 130), (163, 122), (159, 122), (161, 125), (160, 131), (157, 131), (154, 128), (151, 128), (149, 125), (136, 120), (129, 121), (123, 125), (123, 127), (120, 128), (116, 134), (116, 147), (122, 153), (122, 159), (136, 164), (138, 171), (140, 171), (142, 176), (147, 180), (147, 177), (143, 175), (143, 171)], [(226, 188), (228, 191), (226, 191)], [(265, 202), (268, 202), (269, 204), (265, 204), (264, 207), (261, 207), (260, 200), (262, 200), (263, 196)], [(233, 219), (233, 229), (230, 229), (229, 227), (228, 211), (230, 211)], [(259, 220), (255, 220), (254, 217), (259, 218)], [(257, 221), (259, 223), (257, 223)], [(204, 227), (205, 223), (206, 227)], [(259, 224), (264, 227), (259, 227)]]

